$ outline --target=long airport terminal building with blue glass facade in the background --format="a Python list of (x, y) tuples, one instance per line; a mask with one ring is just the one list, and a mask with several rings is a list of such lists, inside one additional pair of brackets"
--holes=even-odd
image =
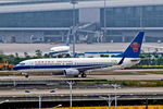
[(105, 0), (105, 8), (77, 0), (74, 9), (70, 0), (1, 2), (0, 20), (1, 43), (63, 43), (73, 22), (77, 43), (128, 43), (141, 29), (145, 41), (163, 41), (162, 0)]

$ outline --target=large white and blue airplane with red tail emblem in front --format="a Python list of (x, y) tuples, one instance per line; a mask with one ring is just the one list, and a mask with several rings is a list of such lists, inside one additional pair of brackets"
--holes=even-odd
[(61, 58), (30, 59), (20, 62), (13, 69), (28, 77), (29, 73), (62, 72), (66, 76), (86, 77), (85, 72), (117, 70), (140, 62), (139, 53), (145, 32), (139, 32), (127, 49), (110, 58)]

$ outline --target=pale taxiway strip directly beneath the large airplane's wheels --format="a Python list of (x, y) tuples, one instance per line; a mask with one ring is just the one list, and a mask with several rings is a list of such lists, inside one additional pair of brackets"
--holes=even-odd
[(1, 81), (65, 81), (65, 80), (163, 80), (163, 74), (148, 74), (148, 75), (88, 75), (83, 77), (65, 77), (62, 75), (46, 75), (46, 76), (0, 76)]

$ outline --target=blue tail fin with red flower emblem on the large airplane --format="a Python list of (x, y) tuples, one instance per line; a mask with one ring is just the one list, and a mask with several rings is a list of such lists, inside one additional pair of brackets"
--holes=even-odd
[(128, 46), (128, 48), (123, 53), (117, 55), (115, 57), (139, 58), (143, 36), (145, 36), (145, 32), (139, 32), (138, 35), (131, 41), (131, 44)]

